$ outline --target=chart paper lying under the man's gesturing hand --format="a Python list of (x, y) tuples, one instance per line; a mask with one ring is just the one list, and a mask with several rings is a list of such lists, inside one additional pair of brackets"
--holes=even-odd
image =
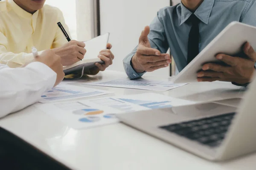
[(83, 85), (107, 86), (116, 88), (132, 88), (149, 91), (168, 91), (186, 84), (173, 84), (168, 81), (151, 81), (147, 79), (116, 79), (111, 81), (99, 81), (84, 83)]

